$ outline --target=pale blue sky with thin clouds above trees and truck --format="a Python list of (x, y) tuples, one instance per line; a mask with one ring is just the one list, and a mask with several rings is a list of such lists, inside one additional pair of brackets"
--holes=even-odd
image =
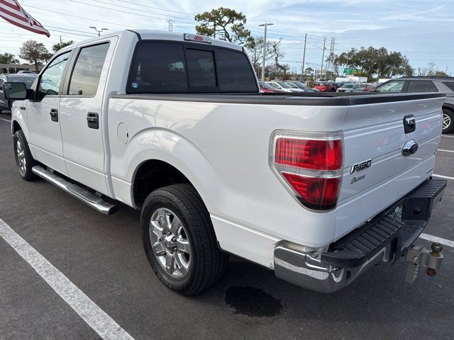
[(253, 35), (262, 35), (260, 23), (274, 23), (268, 37), (282, 38), (282, 62), (292, 68), (301, 67), (307, 33), (306, 67), (320, 66), (326, 36), (327, 49), (331, 38), (336, 38), (336, 53), (350, 47), (384, 46), (402, 52), (412, 67), (433, 62), (454, 75), (453, 0), (19, 1), (50, 30), (51, 37), (28, 33), (0, 19), (0, 52), (17, 55), (21, 42), (31, 38), (48, 47), (60, 35), (63, 40), (84, 40), (94, 34), (89, 26), (111, 31), (128, 27), (167, 30), (167, 19), (172, 18), (174, 31), (193, 32), (195, 13), (224, 6), (242, 11)]

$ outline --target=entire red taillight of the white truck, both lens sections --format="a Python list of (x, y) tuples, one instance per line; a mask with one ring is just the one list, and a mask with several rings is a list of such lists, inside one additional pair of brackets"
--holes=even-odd
[(273, 169), (303, 205), (336, 207), (342, 176), (341, 135), (311, 138), (275, 135)]

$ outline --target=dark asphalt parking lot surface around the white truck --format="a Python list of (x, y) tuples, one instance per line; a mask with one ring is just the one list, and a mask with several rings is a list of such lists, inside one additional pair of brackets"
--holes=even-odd
[[(101, 215), (50, 183), (18, 176), (10, 119), (0, 115), (0, 219), (62, 274), (54, 277), (67, 281), (53, 283), (60, 285), (57, 293), (0, 237), (0, 339), (454, 338), (454, 135), (441, 138), (435, 174), (448, 179), (448, 188), (425, 230), (445, 240), (437, 276), (421, 271), (408, 285), (399, 261), (323, 295), (231, 256), (218, 283), (183, 297), (148, 265), (138, 211), (121, 205), (115, 215)], [(71, 295), (70, 284), (79, 295)], [(74, 310), (85, 297), (93, 310)], [(82, 318), (90, 313), (118, 328), (99, 335)]]

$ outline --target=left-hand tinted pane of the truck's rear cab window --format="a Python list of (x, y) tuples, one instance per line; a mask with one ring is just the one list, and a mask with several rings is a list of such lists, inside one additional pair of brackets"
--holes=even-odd
[(147, 42), (138, 46), (126, 91), (128, 93), (187, 92), (183, 45)]

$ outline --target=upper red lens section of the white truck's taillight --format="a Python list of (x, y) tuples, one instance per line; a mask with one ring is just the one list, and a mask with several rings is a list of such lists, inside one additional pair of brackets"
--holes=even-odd
[(305, 169), (336, 170), (342, 164), (341, 140), (280, 137), (276, 141), (275, 162)]

